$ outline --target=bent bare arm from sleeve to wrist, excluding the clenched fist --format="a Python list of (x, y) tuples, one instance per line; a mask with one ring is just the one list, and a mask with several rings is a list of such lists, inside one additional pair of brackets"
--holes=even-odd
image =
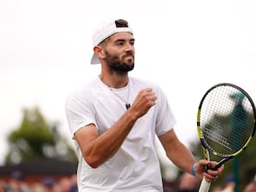
[(137, 118), (128, 111), (108, 131), (99, 136), (96, 125), (82, 127), (74, 134), (84, 156), (93, 168), (100, 166), (117, 152)]

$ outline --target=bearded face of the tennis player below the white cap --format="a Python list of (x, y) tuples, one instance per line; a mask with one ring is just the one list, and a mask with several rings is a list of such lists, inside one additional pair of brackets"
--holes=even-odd
[(119, 32), (107, 39), (104, 48), (110, 70), (125, 74), (134, 68), (134, 38), (130, 32)]

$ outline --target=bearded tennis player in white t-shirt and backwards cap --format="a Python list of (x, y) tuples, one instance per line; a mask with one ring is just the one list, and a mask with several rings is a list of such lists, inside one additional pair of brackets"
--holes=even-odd
[(67, 121), (79, 154), (79, 191), (163, 191), (155, 135), (176, 166), (215, 181), (224, 166), (204, 172), (216, 162), (195, 162), (172, 129), (176, 120), (160, 87), (128, 76), (134, 42), (127, 21), (102, 24), (93, 36), (91, 59), (101, 63), (102, 72), (67, 98)]

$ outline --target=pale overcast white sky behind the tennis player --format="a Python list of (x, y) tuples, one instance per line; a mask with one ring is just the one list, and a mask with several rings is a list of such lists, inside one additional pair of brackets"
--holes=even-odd
[(0, 0), (0, 165), (22, 108), (38, 106), (69, 136), (65, 99), (100, 73), (90, 65), (91, 34), (111, 18), (130, 22), (131, 76), (160, 84), (188, 145), (197, 139), (201, 96), (213, 84), (240, 85), (256, 100), (255, 10), (254, 0)]

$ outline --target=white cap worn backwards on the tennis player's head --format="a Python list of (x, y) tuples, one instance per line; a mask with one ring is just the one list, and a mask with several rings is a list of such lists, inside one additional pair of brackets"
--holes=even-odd
[[(103, 40), (105, 40), (106, 38), (110, 37), (111, 35), (117, 32), (132, 33), (132, 30), (130, 27), (117, 27), (115, 24), (115, 20), (103, 23), (93, 33), (93, 36), (92, 36), (93, 46), (97, 46), (101, 44)], [(96, 54), (93, 54), (90, 60), (90, 64), (99, 64), (99, 63), (101, 63), (101, 61), (99, 60), (99, 57)]]

